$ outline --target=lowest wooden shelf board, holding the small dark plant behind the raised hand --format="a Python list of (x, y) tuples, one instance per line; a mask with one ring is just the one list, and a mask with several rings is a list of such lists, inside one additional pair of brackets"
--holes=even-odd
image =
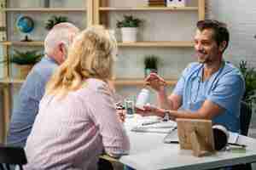
[[(21, 84), (25, 80), (15, 79), (15, 78), (2, 78), (0, 83), (10, 83), (10, 84)], [(177, 80), (166, 80), (168, 85), (176, 84)], [(143, 86), (143, 79), (117, 79), (114, 81), (114, 84), (117, 86)]]

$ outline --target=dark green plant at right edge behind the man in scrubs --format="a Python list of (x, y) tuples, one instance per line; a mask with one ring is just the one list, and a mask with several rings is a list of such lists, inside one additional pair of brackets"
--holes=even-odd
[(252, 107), (256, 103), (256, 71), (254, 68), (249, 68), (247, 61), (244, 60), (240, 61), (239, 69), (244, 77), (246, 86), (242, 100)]

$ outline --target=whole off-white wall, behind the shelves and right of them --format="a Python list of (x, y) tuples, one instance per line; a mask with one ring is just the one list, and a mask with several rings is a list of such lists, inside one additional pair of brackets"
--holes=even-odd
[[(11, 7), (39, 7), (42, 0), (10, 0)], [(29, 2), (29, 3), (27, 3)], [(72, 3), (70, 3), (72, 2)], [(51, 5), (57, 7), (79, 8), (84, 0), (65, 0), (51, 1)], [(112, 6), (137, 6), (143, 5), (145, 0), (120, 1), (110, 0)], [(190, 0), (189, 3), (193, 3)], [(194, 2), (196, 2), (194, 0)], [(20, 3), (20, 4), (19, 4)], [(82, 5), (80, 5), (82, 4)], [(251, 65), (256, 66), (256, 18), (253, 17), (256, 12), (256, 1), (254, 0), (207, 0), (207, 18), (224, 21), (230, 28), (230, 48), (228, 48), (225, 59), (238, 64), (241, 59), (247, 59)], [(9, 17), (9, 27), (12, 40), (19, 40), (23, 35), (15, 29), (15, 18), (20, 13), (11, 14)], [(116, 20), (119, 20), (123, 14), (129, 12), (110, 12), (110, 28), (115, 27)], [(140, 31), (140, 40), (191, 40), (195, 31), (195, 22), (197, 14), (195, 12), (133, 12), (137, 17), (144, 20)], [(32, 37), (36, 40), (44, 37), (46, 31), (42, 29), (44, 20), (47, 20), (51, 14), (28, 14), (34, 17), (36, 21), (35, 31)], [(79, 13), (69, 13), (69, 18), (81, 28), (81, 22), (86, 22), (85, 15)], [(191, 61), (195, 60), (193, 48), (120, 48), (119, 59), (116, 65), (116, 75), (121, 78), (143, 78), (143, 57), (145, 54), (157, 54), (160, 56), (160, 75), (166, 78), (177, 78), (183, 68)], [(1, 71), (1, 70), (0, 70)], [(136, 95), (140, 88), (119, 88), (121, 94)], [(256, 122), (256, 121), (255, 121)], [(255, 123), (256, 124), (256, 123)]]

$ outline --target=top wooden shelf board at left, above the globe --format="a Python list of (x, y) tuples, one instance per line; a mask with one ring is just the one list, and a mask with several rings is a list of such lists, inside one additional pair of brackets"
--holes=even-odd
[(2, 8), (0, 12), (83, 12), (86, 8)]

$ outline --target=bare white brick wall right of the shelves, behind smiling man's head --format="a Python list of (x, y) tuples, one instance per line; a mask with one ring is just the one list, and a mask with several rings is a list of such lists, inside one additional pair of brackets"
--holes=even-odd
[[(207, 18), (221, 20), (230, 28), (230, 48), (225, 54), (226, 59), (239, 63), (246, 59), (249, 65), (256, 67), (256, 1), (254, 0), (208, 0)], [(256, 128), (255, 111), (251, 127)], [(256, 133), (251, 131), (253, 137)]]

